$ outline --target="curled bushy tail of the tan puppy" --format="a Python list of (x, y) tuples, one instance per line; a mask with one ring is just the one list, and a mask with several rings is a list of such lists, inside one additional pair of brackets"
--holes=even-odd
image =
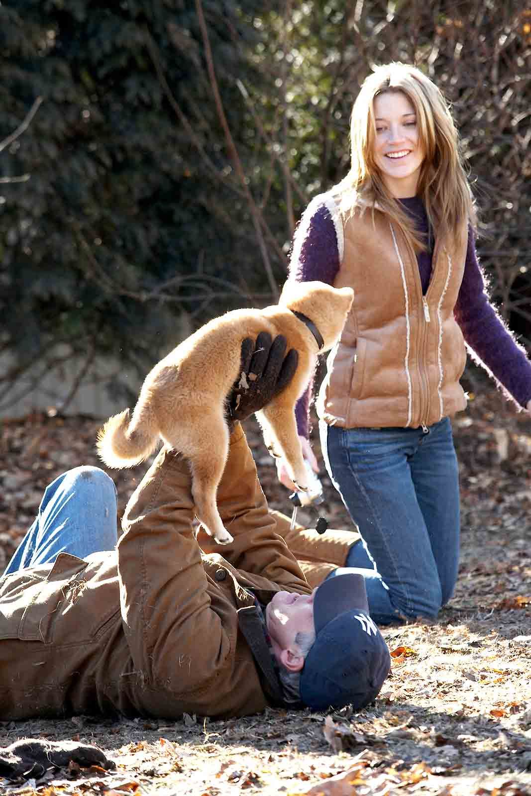
[(158, 428), (149, 411), (137, 412), (130, 421), (129, 409), (114, 415), (98, 431), (96, 447), (108, 467), (134, 467), (157, 447)]

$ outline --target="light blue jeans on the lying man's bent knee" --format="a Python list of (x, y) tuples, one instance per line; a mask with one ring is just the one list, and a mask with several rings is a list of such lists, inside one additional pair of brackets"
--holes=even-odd
[(114, 482), (98, 467), (76, 467), (46, 487), (39, 513), (4, 575), (49, 564), (60, 552), (85, 558), (92, 552), (112, 550), (116, 540)]

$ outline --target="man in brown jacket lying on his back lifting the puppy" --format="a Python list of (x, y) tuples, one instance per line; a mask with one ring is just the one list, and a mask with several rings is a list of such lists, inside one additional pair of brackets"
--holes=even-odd
[(258, 377), (232, 412), (217, 494), (232, 544), (201, 551), (189, 466), (166, 447), (127, 505), (118, 544), (115, 486), (102, 470), (78, 467), (47, 488), (0, 578), (2, 720), (225, 718), (375, 699), (390, 658), (364, 579), (342, 571), (312, 591), (276, 533), (237, 422), (296, 367), (285, 341), (264, 349), (261, 367), (248, 357)]

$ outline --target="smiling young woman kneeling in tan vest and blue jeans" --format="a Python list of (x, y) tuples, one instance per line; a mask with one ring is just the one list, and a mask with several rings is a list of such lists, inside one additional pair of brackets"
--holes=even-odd
[[(531, 364), (490, 305), (474, 203), (451, 113), (407, 64), (377, 68), (351, 120), (352, 163), (310, 203), (289, 279), (354, 290), (317, 400), (326, 469), (360, 529), (348, 565), (373, 566), (380, 623), (435, 617), (459, 558), (459, 477), (449, 418), (466, 408), (465, 343), (531, 410)], [(306, 458), (310, 389), (297, 406)], [(290, 486), (283, 462), (279, 478)]]

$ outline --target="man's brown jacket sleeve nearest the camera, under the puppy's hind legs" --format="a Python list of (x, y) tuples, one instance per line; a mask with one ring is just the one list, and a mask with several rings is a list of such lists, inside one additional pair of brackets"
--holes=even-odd
[(223, 604), (211, 606), (193, 537), (190, 482), (187, 462), (162, 449), (127, 504), (117, 548), (135, 675), (146, 687), (173, 692), (193, 692), (214, 677), (234, 646)]

